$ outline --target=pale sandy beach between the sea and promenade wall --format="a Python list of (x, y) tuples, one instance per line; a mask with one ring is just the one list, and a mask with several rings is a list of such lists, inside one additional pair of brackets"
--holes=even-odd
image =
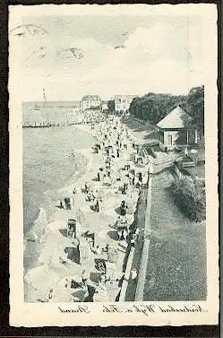
[[(98, 136), (99, 139), (97, 131), (91, 130), (90, 126), (83, 125), (78, 126), (78, 128)], [(130, 143), (129, 141), (129, 146)], [(84, 238), (86, 231), (95, 234), (95, 241), (100, 248), (107, 245), (115, 247), (118, 256), (116, 260), (116, 286), (108, 288), (107, 292), (100, 290), (98, 301), (101, 301), (101, 297), (105, 297), (107, 300), (116, 300), (120, 292), (121, 281), (124, 276), (124, 261), (128, 256), (128, 243), (125, 240), (117, 240), (118, 209), (123, 200), (131, 204), (132, 212), (126, 215), (126, 219), (128, 224), (133, 224), (133, 214), (139, 198), (139, 190), (131, 188), (126, 195), (122, 195), (119, 190), (123, 184), (122, 178), (116, 182), (117, 184), (114, 184), (115, 182), (111, 184), (111, 180), (107, 178), (104, 178), (103, 182), (98, 181), (97, 171), (105, 165), (104, 152), (95, 153), (93, 147), (81, 149), (78, 152), (88, 159), (87, 166), (76, 173), (69, 186), (64, 186), (54, 196), (51, 196), (55, 203), (54, 212), (48, 220), (47, 226), (43, 227), (39, 239), (31, 241), (32, 247), (36, 249), (34, 256), (38, 259), (33, 262), (24, 276), (25, 301), (83, 301), (84, 290), (81, 287), (81, 272), (83, 269), (89, 274), (88, 290), (90, 288), (94, 291), (97, 289), (101, 273), (96, 263), (100, 260), (106, 261), (106, 253), (101, 253), (98, 256), (93, 249), (90, 251), (87, 263), (84, 264), (80, 264), (78, 258), (70, 257), (71, 259), (69, 259), (69, 255), (72, 256), (73, 251), (75, 252), (78, 246), (86, 247), (86, 238)], [(131, 168), (137, 170), (137, 166), (129, 158), (129, 153), (123, 151), (120, 153), (120, 157), (114, 160), (114, 168), (117, 172), (120, 172), (124, 169), (124, 164), (130, 163)], [(138, 170), (142, 170), (142, 168), (138, 168)], [(103, 195), (103, 208), (100, 212), (95, 212), (93, 205), (86, 201), (86, 194), (82, 192), (86, 182), (90, 182), (90, 186)], [(75, 194), (73, 194), (73, 188), (75, 188)], [(59, 207), (59, 200), (66, 196), (73, 197), (74, 208), (72, 210), (64, 210)], [(67, 238), (66, 236), (67, 221), (73, 218), (81, 219), (81, 237), (78, 238), (78, 243), (75, 238)], [(53, 296), (50, 299), (47, 298), (49, 290), (53, 290), (51, 291)], [(97, 299), (96, 295), (95, 298)], [(88, 301), (92, 301), (90, 292)]]

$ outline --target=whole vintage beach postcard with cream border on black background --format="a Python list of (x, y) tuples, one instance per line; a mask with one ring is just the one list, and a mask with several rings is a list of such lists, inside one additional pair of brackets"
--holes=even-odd
[(217, 16), (10, 6), (10, 325), (218, 324)]

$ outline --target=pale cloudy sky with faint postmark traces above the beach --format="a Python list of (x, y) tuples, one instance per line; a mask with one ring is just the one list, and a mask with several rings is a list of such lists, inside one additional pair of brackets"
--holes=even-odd
[[(11, 31), (22, 100), (187, 94), (203, 84), (198, 16), (23, 17)], [(30, 26), (27, 26), (30, 25)]]

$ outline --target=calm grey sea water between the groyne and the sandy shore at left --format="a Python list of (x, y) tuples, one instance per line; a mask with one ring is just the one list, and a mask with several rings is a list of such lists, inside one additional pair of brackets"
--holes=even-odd
[[(75, 151), (88, 148), (93, 137), (75, 126), (22, 129), (23, 229), (30, 230), (40, 208), (47, 209), (46, 192), (64, 187), (84, 167)], [(73, 156), (73, 154), (75, 156)]]

